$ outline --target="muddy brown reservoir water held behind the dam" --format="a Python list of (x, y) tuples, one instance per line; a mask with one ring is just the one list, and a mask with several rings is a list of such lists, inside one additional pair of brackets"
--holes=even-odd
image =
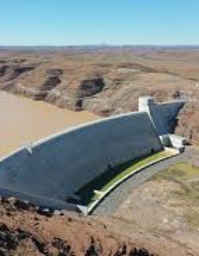
[(98, 117), (0, 91), (0, 157), (30, 142)]

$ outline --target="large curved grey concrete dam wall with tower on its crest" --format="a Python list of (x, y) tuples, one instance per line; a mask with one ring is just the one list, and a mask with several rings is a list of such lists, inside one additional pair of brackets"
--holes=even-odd
[(76, 192), (121, 163), (160, 152), (184, 101), (139, 99), (139, 111), (74, 126), (0, 159), (0, 195), (57, 209)]

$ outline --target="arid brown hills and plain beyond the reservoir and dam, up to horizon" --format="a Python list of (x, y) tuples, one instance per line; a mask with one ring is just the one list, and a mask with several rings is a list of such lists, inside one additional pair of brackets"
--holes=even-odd
[(0, 89), (108, 116), (136, 110), (138, 97), (186, 97), (177, 133), (198, 143), (199, 49), (105, 47), (1, 49)]

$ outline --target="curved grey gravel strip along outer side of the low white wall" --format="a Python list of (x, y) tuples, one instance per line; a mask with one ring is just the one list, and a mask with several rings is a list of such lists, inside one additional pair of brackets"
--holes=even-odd
[(131, 176), (128, 180), (124, 181), (121, 185), (114, 189), (105, 199), (93, 210), (92, 214), (106, 214), (112, 215), (118, 209), (119, 205), (123, 203), (132, 192), (132, 189), (139, 187), (152, 175), (157, 172), (168, 168), (173, 163), (189, 160), (197, 165), (198, 152), (193, 147), (186, 147), (183, 154), (173, 156), (172, 158), (165, 159), (159, 163), (145, 168), (143, 171)]

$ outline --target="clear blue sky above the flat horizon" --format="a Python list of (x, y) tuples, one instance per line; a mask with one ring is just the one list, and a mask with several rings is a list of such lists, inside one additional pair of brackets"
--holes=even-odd
[(199, 44), (199, 0), (2, 0), (0, 45)]

